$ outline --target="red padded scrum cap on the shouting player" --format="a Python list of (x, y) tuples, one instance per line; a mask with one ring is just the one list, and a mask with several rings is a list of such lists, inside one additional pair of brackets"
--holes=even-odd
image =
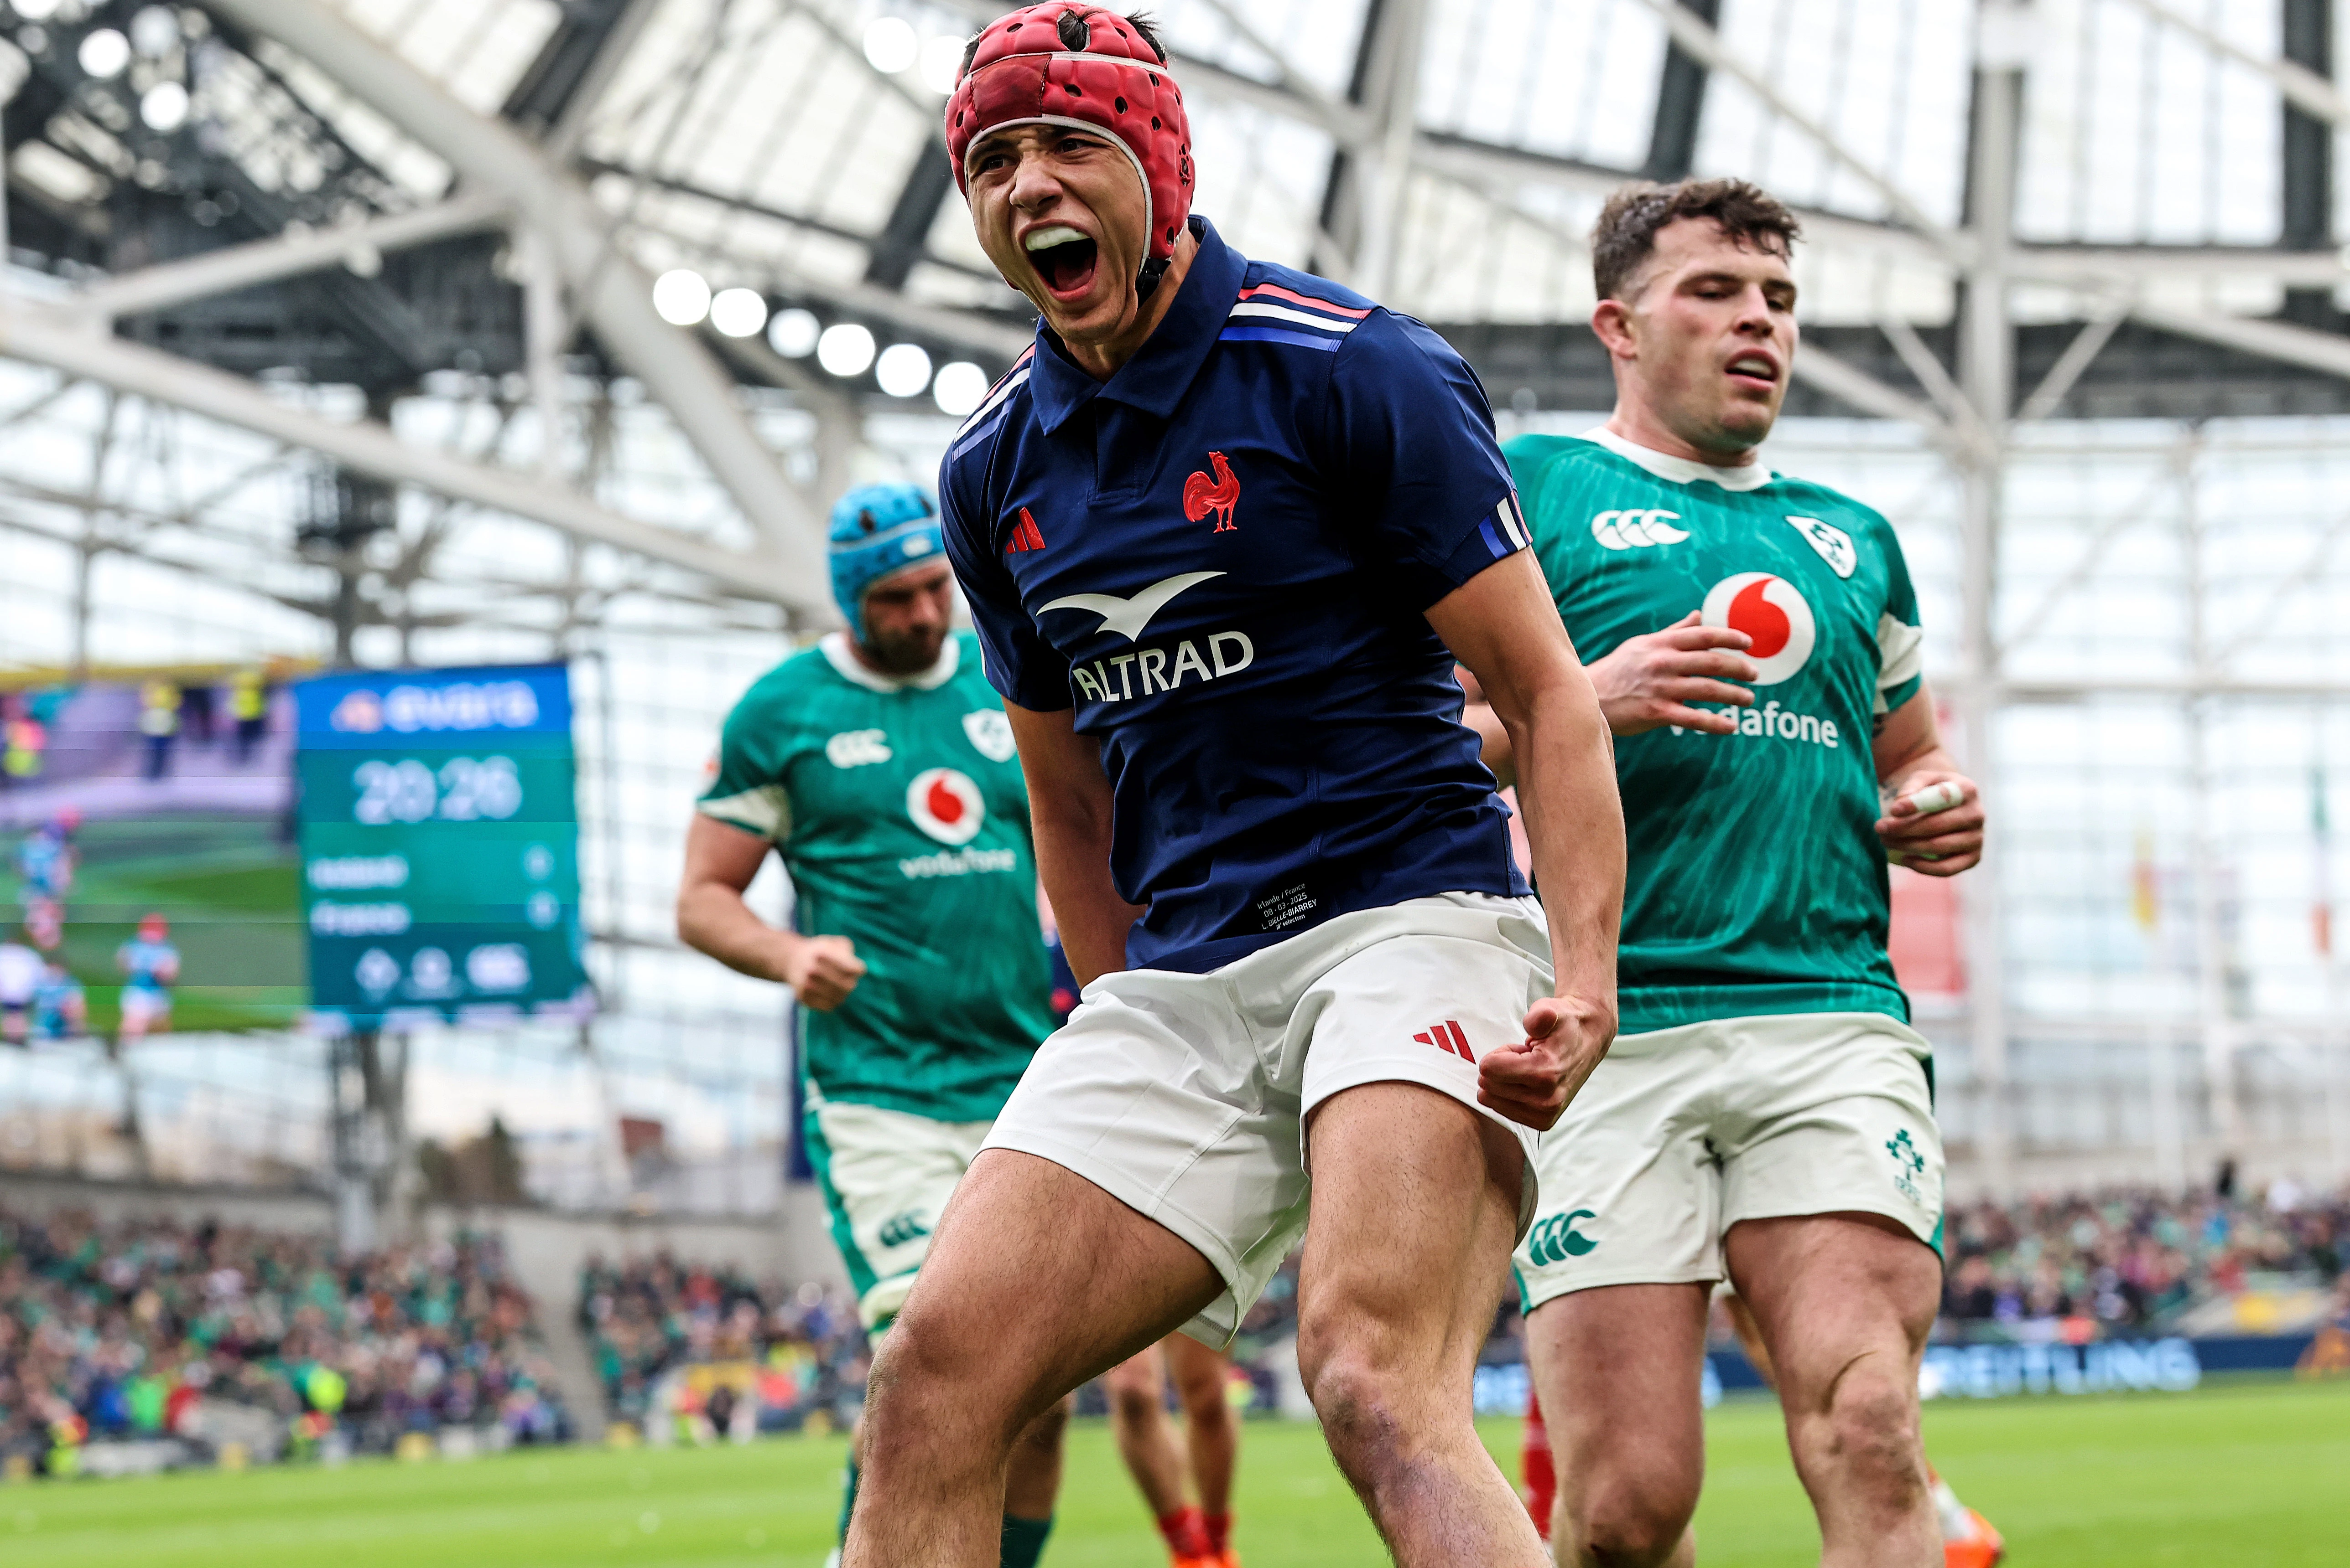
[(1006, 124), (1072, 124), (1107, 136), (1133, 160), (1149, 197), (1149, 296), (1191, 216), (1191, 122), (1166, 52), (1116, 12), (1048, 0), (996, 16), (964, 61), (947, 99), (954, 183), (971, 195), (964, 155)]

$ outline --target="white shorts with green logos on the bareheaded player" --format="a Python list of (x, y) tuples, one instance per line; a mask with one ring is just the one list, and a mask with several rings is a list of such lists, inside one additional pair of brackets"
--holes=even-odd
[(1603, 1284), (1723, 1279), (1739, 1221), (1882, 1214), (1941, 1235), (1925, 1038), (1875, 1012), (1711, 1019), (1619, 1035), (1544, 1134), (1525, 1310)]

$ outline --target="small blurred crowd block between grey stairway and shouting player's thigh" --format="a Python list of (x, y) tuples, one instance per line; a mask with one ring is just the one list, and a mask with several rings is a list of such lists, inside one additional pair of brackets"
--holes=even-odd
[(604, 1404), (653, 1441), (844, 1425), (872, 1352), (855, 1300), (660, 1251), (580, 1270), (580, 1329)]

